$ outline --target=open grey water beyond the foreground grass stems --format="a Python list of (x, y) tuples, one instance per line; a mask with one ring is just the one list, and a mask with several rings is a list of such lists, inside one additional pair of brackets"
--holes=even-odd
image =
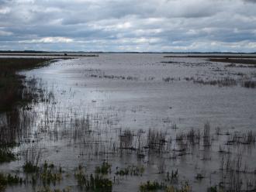
[[(178, 63), (161, 63), (169, 60)], [(227, 69), (225, 65), (203, 58), (164, 58), (162, 54), (102, 54), (62, 60), (26, 75), (46, 81), (57, 101), (67, 108), (125, 111), (119, 123), (132, 129), (161, 128), (163, 118), (170, 118), (181, 128), (196, 128), (209, 121), (227, 129), (251, 129), (256, 125), (254, 89), (204, 86), (184, 80), (230, 77), (237, 71), (255, 73), (254, 69)], [(175, 80), (163, 81), (167, 77)]]

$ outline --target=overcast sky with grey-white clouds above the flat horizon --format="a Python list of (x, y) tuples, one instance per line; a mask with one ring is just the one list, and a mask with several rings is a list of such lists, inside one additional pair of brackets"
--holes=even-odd
[(256, 51), (256, 0), (0, 0), (0, 50)]

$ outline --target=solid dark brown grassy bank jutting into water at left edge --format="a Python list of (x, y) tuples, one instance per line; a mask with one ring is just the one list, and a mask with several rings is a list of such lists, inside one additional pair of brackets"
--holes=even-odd
[(32, 100), (32, 96), (22, 96), (23, 76), (20, 70), (29, 70), (46, 65), (49, 59), (43, 58), (0, 58), (0, 113), (12, 111), (16, 105), (23, 105)]

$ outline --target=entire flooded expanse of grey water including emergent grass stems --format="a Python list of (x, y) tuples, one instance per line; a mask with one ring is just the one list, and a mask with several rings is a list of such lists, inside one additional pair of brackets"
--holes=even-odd
[(20, 72), (37, 96), (0, 117), (0, 191), (255, 191), (255, 65), (166, 56)]

